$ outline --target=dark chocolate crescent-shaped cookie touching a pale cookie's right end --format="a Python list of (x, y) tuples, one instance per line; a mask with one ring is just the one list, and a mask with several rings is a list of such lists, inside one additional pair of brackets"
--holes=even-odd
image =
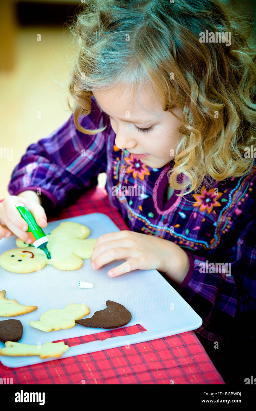
[(118, 328), (131, 321), (131, 313), (122, 304), (108, 300), (106, 306), (90, 318), (76, 320), (76, 324), (83, 327)]

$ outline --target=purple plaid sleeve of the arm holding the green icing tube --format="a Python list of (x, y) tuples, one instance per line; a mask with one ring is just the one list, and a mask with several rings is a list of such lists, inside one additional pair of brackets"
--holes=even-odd
[[(103, 127), (104, 117), (92, 101), (90, 114), (79, 123), (88, 129)], [(46, 195), (53, 206), (74, 203), (88, 187), (97, 184), (99, 173), (106, 171), (105, 130), (84, 134), (74, 124), (74, 114), (50, 136), (31, 144), (15, 167), (8, 190), (17, 195), (25, 190)]]

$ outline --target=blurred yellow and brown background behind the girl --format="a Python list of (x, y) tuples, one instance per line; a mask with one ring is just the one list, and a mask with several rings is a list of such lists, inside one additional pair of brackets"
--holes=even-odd
[[(254, 24), (256, 0), (229, 2)], [(81, 3), (0, 0), (0, 199), (28, 145), (71, 115), (65, 83), (76, 49), (68, 25)], [(104, 187), (105, 173), (98, 181)]]

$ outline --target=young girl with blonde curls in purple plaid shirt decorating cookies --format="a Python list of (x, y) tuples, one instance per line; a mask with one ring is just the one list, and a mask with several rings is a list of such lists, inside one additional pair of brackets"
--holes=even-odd
[(159, 270), (202, 317), (196, 334), (228, 381), (232, 361), (246, 364), (242, 345), (250, 364), (254, 356), (256, 51), (248, 25), (218, 0), (91, 0), (71, 32), (79, 40), (73, 113), (14, 169), (0, 236), (28, 240), (16, 196), (46, 227), (47, 204), (74, 203), (105, 171), (111, 205), (131, 231), (99, 237), (92, 268), (125, 259), (110, 277)]

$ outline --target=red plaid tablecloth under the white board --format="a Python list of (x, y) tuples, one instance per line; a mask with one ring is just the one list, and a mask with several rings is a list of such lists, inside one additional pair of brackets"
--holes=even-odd
[[(121, 230), (127, 229), (100, 188), (81, 196), (57, 218), (93, 212), (104, 213)], [(143, 330), (137, 324), (63, 341), (73, 346)], [(9, 368), (0, 363), (0, 377), (12, 378), (13, 384), (225, 384), (193, 331), (27, 367)]]

